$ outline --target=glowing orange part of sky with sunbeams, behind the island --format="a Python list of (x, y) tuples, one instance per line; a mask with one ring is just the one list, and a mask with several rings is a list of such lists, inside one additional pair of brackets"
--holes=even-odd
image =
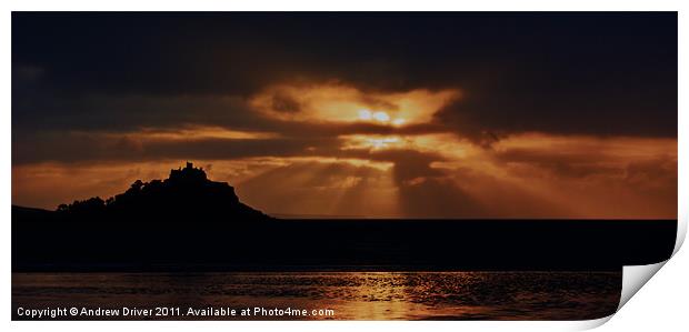
[[(240, 200), (280, 215), (677, 217), (676, 139), (522, 131), (479, 142), (437, 118), (463, 95), (284, 83), (247, 100), (248, 112), (272, 123), (260, 130), (182, 122), (70, 131), (58, 139), (88, 141), (81, 149), (97, 158), (13, 164), (12, 203), (54, 209), (107, 198), (191, 160)], [(213, 148), (202, 153), (197, 143)], [(243, 154), (213, 154), (244, 145)]]

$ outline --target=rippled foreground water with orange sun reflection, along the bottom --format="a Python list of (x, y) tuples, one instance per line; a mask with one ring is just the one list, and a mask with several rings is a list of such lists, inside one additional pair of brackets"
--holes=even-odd
[[(41, 319), (70, 320), (586, 320), (616, 311), (621, 278), (621, 272), (12, 273), (12, 316), (29, 319), (30, 310), (44, 310)], [(106, 315), (99, 308), (111, 311)]]

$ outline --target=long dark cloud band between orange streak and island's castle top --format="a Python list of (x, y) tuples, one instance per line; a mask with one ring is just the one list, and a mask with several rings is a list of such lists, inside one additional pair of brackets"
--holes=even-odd
[(176, 139), (156, 140), (134, 134), (108, 135), (90, 132), (42, 132), (22, 137), (13, 142), (12, 163), (40, 161), (153, 161), (162, 159), (230, 160), (252, 157), (323, 157), (365, 159), (406, 164), (405, 172), (415, 169), (431, 171), (432, 161), (441, 155), (415, 150), (370, 148), (342, 150), (337, 137), (267, 138), (267, 139)]

